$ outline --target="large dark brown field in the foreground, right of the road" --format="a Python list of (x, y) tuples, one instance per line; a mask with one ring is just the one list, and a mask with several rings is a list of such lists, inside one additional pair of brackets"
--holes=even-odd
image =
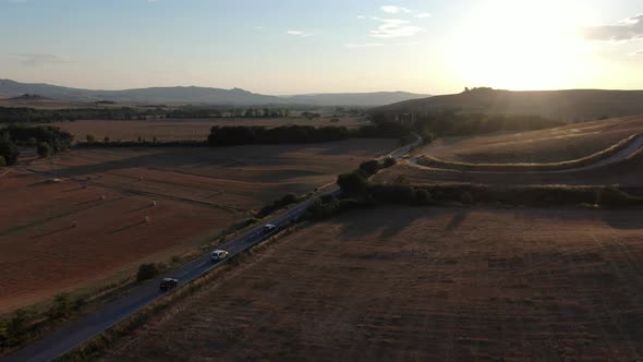
[(643, 212), (392, 207), (306, 227), (106, 361), (634, 361)]

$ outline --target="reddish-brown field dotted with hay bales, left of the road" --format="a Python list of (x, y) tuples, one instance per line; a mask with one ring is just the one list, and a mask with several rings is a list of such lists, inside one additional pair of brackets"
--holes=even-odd
[[(396, 146), (349, 140), (81, 149), (7, 169), (0, 176), (0, 314), (181, 255), (248, 212), (332, 182)], [(49, 182), (54, 178), (62, 182)]]

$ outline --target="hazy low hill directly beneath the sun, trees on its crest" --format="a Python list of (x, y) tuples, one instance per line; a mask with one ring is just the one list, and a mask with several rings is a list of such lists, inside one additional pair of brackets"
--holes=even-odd
[(439, 110), (537, 114), (566, 122), (643, 113), (643, 90), (539, 90), (512, 92), (477, 88), (461, 94), (407, 100), (373, 112), (407, 113)]

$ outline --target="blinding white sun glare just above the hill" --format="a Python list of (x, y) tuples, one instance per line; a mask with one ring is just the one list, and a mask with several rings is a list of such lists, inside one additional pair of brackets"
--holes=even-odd
[[(589, 60), (571, 1), (485, 1), (449, 44), (450, 63), (470, 86), (551, 89), (573, 84)], [(561, 4), (562, 3), (562, 4)]]

